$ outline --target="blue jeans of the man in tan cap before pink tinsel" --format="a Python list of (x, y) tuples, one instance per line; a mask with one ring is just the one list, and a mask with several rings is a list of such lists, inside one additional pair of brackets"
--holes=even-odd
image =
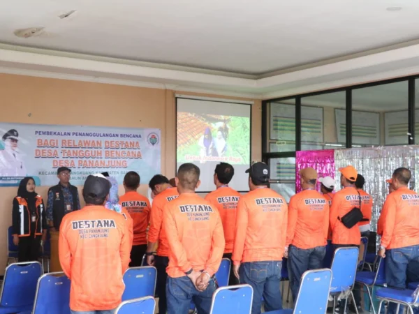
[(297, 300), (298, 290), (304, 271), (321, 269), (326, 254), (325, 246), (308, 248), (303, 250), (297, 246), (289, 246), (288, 249), (288, 276), (290, 277), (291, 293), (293, 300)]

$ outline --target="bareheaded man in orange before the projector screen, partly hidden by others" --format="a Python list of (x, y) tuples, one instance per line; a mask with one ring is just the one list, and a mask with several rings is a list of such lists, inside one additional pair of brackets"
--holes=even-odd
[[(234, 168), (228, 163), (219, 163), (215, 167), (214, 184), (216, 190), (207, 194), (205, 200), (214, 204), (218, 209), (223, 223), (224, 237), (226, 238), (226, 248), (223, 258), (231, 260), (233, 255), (235, 223), (237, 216), (237, 202), (240, 200), (240, 193), (230, 188), (228, 184), (234, 176)], [(230, 270), (229, 285), (238, 285), (239, 281), (234, 275), (233, 267)]]

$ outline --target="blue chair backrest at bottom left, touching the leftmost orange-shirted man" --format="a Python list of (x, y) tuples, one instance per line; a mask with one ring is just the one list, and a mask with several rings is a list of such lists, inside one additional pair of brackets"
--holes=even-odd
[(63, 272), (41, 276), (36, 287), (34, 314), (70, 314), (71, 281)]

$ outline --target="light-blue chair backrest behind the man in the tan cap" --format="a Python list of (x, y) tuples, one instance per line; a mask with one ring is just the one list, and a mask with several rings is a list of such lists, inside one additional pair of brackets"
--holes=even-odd
[(325, 314), (328, 309), (331, 281), (330, 269), (316, 269), (302, 274), (293, 313)]

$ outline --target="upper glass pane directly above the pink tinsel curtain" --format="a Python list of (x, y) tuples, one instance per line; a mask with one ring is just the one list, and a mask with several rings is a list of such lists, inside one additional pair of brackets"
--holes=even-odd
[(346, 92), (301, 98), (301, 150), (346, 147)]

